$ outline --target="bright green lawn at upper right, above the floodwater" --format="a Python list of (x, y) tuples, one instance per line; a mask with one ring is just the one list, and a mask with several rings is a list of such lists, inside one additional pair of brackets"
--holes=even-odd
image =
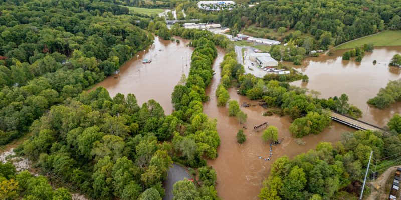
[(356, 39), (336, 47), (335, 49), (346, 49), (363, 46), (366, 43), (373, 43), (374, 46), (401, 46), (401, 31), (385, 30), (379, 34)]

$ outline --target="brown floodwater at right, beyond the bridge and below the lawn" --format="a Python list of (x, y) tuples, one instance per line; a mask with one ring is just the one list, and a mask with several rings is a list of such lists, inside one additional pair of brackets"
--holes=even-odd
[[(342, 60), (344, 51), (346, 50), (338, 50), (332, 56), (321, 55), (305, 59), (301, 66), (294, 67), (308, 75), (309, 82), (297, 81), (292, 84), (319, 91), (322, 98), (345, 93), (349, 102), (362, 110), (363, 116), (360, 120), (383, 127), (392, 115), (401, 113), (401, 103), (378, 109), (366, 102), (376, 96), (388, 81), (401, 78), (401, 68), (388, 66), (392, 56), (401, 53), (401, 46), (375, 47), (372, 52), (365, 53), (360, 63), (354, 59)], [(377, 61), (375, 65), (373, 60)]]

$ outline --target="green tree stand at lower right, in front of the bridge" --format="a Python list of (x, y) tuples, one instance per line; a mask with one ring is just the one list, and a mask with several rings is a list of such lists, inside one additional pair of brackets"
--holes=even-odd
[[(319, 143), (315, 149), (293, 159), (278, 158), (263, 182), (259, 198), (271, 199), (357, 199), (370, 152), (378, 160), (401, 152), (400, 116), (388, 123), (389, 132), (356, 131), (341, 135), (335, 144)], [(385, 165), (385, 164), (384, 164)], [(384, 166), (385, 168), (385, 166)]]

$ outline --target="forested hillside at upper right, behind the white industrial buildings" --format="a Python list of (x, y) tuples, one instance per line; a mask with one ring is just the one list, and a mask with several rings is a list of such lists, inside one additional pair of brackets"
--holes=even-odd
[[(309, 33), (320, 49), (327, 49), (329, 45), (376, 33), (385, 26), (401, 29), (400, 7), (397, 0), (263, 1), (251, 8), (239, 7), (230, 13), (221, 11), (216, 21), (238, 30), (251, 24), (275, 30), (280, 27), (299, 30)], [(302, 42), (297, 45), (301, 46)]]

